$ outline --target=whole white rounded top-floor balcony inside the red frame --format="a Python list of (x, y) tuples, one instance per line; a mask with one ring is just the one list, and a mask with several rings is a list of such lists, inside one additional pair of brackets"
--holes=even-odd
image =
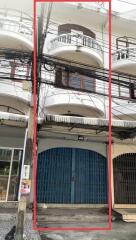
[(83, 34), (61, 34), (50, 41), (48, 53), (93, 66), (103, 65), (103, 51), (97, 41)]

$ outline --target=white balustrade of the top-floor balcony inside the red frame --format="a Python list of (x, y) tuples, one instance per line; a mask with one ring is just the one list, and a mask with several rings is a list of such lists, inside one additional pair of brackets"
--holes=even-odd
[(101, 46), (97, 43), (94, 38), (91, 38), (82, 34), (62, 34), (50, 41), (49, 51), (54, 50), (58, 47), (75, 45), (77, 47), (87, 47), (93, 49), (97, 53), (103, 56)]

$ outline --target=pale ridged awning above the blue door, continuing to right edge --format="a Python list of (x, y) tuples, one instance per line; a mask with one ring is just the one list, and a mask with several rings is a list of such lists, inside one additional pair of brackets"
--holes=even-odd
[[(61, 115), (46, 115), (45, 119), (40, 121), (40, 129), (48, 127), (69, 127), (71, 130), (91, 129), (97, 132), (109, 131), (109, 120), (102, 118), (88, 118)], [(112, 134), (119, 139), (134, 138), (136, 136), (136, 121), (112, 120)]]

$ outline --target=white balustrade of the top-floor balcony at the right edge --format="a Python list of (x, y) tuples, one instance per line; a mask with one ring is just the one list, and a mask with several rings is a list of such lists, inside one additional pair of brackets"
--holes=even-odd
[(120, 60), (136, 60), (136, 47), (117, 50), (112, 54), (113, 63)]

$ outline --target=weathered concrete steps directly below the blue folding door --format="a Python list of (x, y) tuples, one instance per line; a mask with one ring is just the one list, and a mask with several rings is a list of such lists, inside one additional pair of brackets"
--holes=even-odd
[(40, 227), (105, 227), (108, 214), (104, 209), (40, 209), (37, 225)]

